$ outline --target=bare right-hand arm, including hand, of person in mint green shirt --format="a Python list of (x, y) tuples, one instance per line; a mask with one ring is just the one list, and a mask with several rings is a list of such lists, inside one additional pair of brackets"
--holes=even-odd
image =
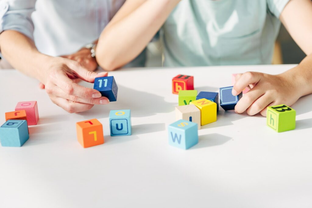
[(291, 106), (300, 97), (312, 93), (312, 2), (290, 0), (280, 20), (307, 56), (295, 68), (278, 75), (246, 72), (236, 76), (233, 95), (247, 86), (252, 88), (235, 106), (237, 113), (246, 110), (249, 115), (260, 112), (266, 116), (267, 106)]

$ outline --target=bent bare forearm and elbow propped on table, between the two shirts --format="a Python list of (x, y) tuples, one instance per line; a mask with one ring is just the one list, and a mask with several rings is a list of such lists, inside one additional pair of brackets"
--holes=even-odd
[(100, 35), (98, 64), (114, 70), (133, 60), (180, 0), (127, 0)]

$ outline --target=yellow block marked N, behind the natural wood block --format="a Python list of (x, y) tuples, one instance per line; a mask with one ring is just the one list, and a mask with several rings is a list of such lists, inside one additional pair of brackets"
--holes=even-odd
[(190, 104), (195, 105), (200, 110), (201, 125), (217, 121), (217, 103), (202, 98)]

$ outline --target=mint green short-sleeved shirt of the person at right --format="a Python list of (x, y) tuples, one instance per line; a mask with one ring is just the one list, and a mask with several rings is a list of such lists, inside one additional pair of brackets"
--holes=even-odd
[(271, 64), (289, 0), (182, 0), (164, 23), (164, 66)]

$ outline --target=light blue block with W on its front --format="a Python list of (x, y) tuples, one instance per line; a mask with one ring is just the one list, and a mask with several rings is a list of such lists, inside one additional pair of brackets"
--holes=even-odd
[(198, 143), (197, 123), (179, 120), (168, 126), (169, 144), (189, 149)]

